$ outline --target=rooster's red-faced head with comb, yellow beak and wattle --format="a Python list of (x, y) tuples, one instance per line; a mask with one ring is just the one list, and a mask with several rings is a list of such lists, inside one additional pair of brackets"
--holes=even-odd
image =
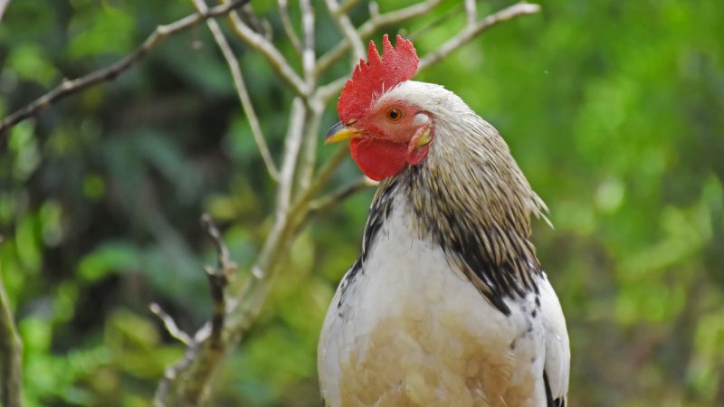
[(369, 42), (367, 61), (360, 60), (337, 105), (340, 121), (329, 129), (326, 143), (349, 139), (357, 166), (380, 181), (405, 166), (420, 164), (433, 141), (433, 117), (414, 102), (386, 97), (410, 80), (420, 61), (412, 42), (397, 35), (395, 47), (382, 38), (383, 55)]

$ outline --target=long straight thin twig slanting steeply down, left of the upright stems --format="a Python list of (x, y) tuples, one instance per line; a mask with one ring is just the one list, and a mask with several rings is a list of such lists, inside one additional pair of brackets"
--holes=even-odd
[[(196, 10), (200, 13), (204, 13), (208, 6), (203, 0), (194, 0)], [(239, 61), (236, 59), (236, 55), (233, 54), (232, 47), (229, 42), (226, 41), (224, 33), (221, 31), (221, 27), (216, 23), (216, 20), (207, 20), (209, 30), (214, 35), (214, 41), (219, 46), (221, 53), (224, 55), (224, 60), (229, 66), (229, 71), (232, 73), (233, 85), (236, 88), (236, 94), (242, 102), (242, 108), (246, 113), (246, 118), (249, 119), (249, 126), (252, 128), (252, 136), (256, 147), (259, 148), (259, 152), (262, 155), (262, 161), (266, 170), (274, 181), (279, 181), (279, 170), (274, 165), (274, 160), (271, 158), (271, 152), (266, 144), (266, 139), (262, 133), (262, 125), (259, 124), (259, 118), (256, 116), (252, 98), (249, 97), (249, 92), (246, 90), (246, 84), (243, 80), (242, 68), (239, 66)]]

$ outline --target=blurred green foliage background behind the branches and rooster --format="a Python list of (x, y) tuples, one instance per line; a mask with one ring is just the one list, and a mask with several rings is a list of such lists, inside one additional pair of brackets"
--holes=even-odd
[[(298, 61), (276, 2), (252, 3)], [(321, 53), (340, 34), (314, 4)], [(480, 1), (479, 14), (507, 5)], [(556, 229), (536, 222), (534, 240), (567, 316), (570, 405), (724, 405), (724, 3), (542, 6), (418, 79), (445, 85), (499, 128), (550, 207)], [(186, 0), (14, 0), (0, 23), (0, 116), (192, 12)], [(291, 14), (297, 24), (296, 2)], [(351, 15), (360, 24), (367, 7)], [(427, 27), (415, 38), (424, 55), (462, 24), (462, 6), (445, 1), (386, 32)], [(291, 92), (229, 38), (279, 157)], [(322, 128), (334, 121), (329, 106)], [(348, 160), (330, 188), (358, 174)], [(0, 140), (0, 278), (24, 339), (26, 404), (149, 405), (183, 346), (148, 303), (195, 331), (211, 313), (201, 267), (215, 261), (200, 214), (220, 224), (245, 273), (273, 191), (203, 24)], [(224, 364), (214, 405), (319, 405), (319, 327), (357, 256), (370, 198), (355, 195), (300, 235)]]

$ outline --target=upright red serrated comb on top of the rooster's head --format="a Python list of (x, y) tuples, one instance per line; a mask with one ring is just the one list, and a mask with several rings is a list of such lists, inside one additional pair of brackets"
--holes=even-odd
[(382, 51), (383, 57), (380, 57), (375, 42), (369, 42), (367, 62), (359, 60), (352, 79), (347, 81), (339, 95), (337, 113), (343, 123), (362, 116), (376, 96), (409, 80), (417, 71), (420, 59), (411, 41), (397, 35), (393, 48), (385, 34), (382, 37)]

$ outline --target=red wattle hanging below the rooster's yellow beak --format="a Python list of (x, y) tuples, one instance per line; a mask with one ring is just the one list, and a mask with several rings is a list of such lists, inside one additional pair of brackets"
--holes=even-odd
[(402, 171), (407, 165), (407, 145), (374, 138), (352, 138), (349, 151), (359, 169), (375, 181)]

